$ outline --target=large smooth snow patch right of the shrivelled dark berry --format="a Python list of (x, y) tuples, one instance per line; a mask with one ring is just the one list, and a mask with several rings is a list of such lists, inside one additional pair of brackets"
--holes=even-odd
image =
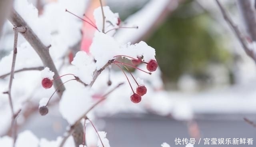
[(59, 103), (59, 111), (70, 125), (82, 117), (92, 105), (91, 91), (88, 88), (76, 87), (66, 89)]

